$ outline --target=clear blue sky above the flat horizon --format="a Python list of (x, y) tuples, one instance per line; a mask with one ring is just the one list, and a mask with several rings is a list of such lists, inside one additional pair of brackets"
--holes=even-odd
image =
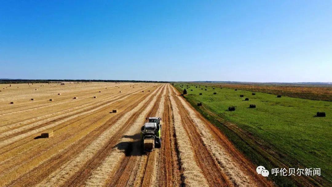
[(332, 1), (1, 1), (0, 78), (332, 82)]

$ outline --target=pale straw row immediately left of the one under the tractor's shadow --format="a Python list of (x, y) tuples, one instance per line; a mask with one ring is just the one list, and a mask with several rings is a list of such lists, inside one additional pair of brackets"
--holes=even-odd
[[(60, 186), (64, 183), (70, 183), (70, 178), (75, 175), (77, 171), (82, 168), (91, 158), (94, 157), (99, 150), (103, 150), (103, 147), (107, 147), (109, 140), (112, 139), (114, 135), (118, 135), (119, 131), (122, 130), (122, 127), (127, 119), (129, 119), (135, 112), (142, 108), (148, 100), (155, 94), (155, 90), (152, 94), (146, 97), (141, 103), (139, 103), (134, 109), (127, 112), (123, 115), (114, 125), (104, 131), (96, 140), (89, 144), (84, 150), (82, 150), (77, 156), (75, 156), (70, 161), (66, 162), (59, 169), (54, 171), (51, 175), (45, 178), (37, 186)], [(118, 130), (119, 129), (119, 130)], [(106, 148), (105, 147), (105, 148)]]

